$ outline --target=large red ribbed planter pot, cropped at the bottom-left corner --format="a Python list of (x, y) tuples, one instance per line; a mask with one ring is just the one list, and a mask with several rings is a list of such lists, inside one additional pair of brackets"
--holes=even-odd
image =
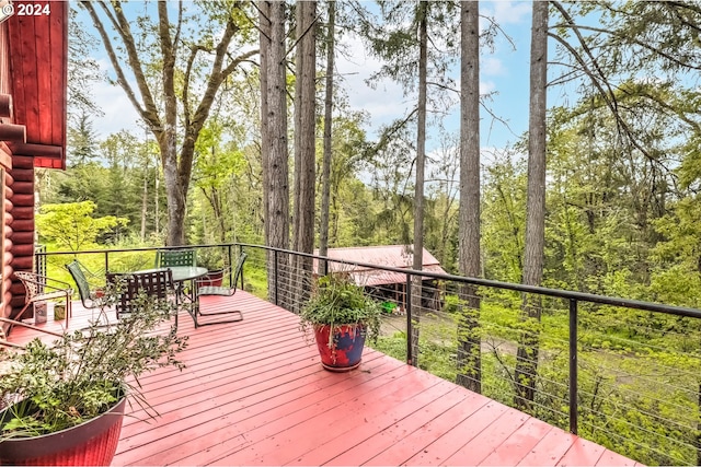
[(117, 450), (126, 397), (77, 427), (0, 442), (0, 465), (106, 466)]

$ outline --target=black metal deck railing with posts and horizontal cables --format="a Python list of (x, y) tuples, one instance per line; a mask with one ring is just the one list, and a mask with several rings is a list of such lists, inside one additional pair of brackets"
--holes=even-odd
[[(701, 462), (699, 310), (260, 245), (195, 247), (222, 262), (245, 250), (244, 288), (296, 313), (309, 265), (349, 275), (388, 311), (378, 350), (641, 463)], [(72, 257), (128, 271), (150, 267), (156, 249), (37, 256), (49, 275)]]

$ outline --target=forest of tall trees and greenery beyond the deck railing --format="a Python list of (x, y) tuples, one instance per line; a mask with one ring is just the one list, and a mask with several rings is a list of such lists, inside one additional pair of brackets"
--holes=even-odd
[[(38, 172), (41, 242), (404, 244), (463, 276), (698, 308), (701, 8), (507, 4), (530, 13), (530, 37), (506, 33), (501, 2), (78, 2), (68, 168)], [(358, 50), (344, 38), (380, 63), (367, 81), (387, 91), (370, 108), (352, 105), (355, 75), (334, 61)], [(528, 51), (527, 89), (481, 82), (504, 45)], [(90, 94), (95, 82), (143, 126), (99, 136), (101, 106), (114, 105)], [(496, 104), (510, 87), (524, 90), (515, 108), (528, 101), (512, 121)], [(522, 133), (509, 125), (526, 117)], [(432, 339), (422, 323), (422, 351), (439, 357), (415, 352), (420, 365), (443, 359), (438, 373), (562, 425), (566, 338), (548, 343), (543, 329), (566, 335), (567, 311), (449, 292), (456, 325)], [(699, 464), (698, 324), (588, 312), (586, 435), (645, 464)], [(495, 339), (509, 351), (481, 350)], [(602, 370), (611, 361), (629, 367)], [(669, 374), (678, 387), (651, 384)], [(667, 399), (678, 404), (660, 409)]]

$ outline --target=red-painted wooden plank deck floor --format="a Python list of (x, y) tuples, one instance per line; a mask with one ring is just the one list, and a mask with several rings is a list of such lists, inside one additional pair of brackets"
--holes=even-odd
[[(142, 378), (160, 417), (129, 409), (113, 465), (635, 465), (371, 349), (327, 372), (296, 315), (241, 291), (205, 300), (244, 320), (180, 316), (187, 367)], [(77, 303), (71, 327), (85, 313)]]

